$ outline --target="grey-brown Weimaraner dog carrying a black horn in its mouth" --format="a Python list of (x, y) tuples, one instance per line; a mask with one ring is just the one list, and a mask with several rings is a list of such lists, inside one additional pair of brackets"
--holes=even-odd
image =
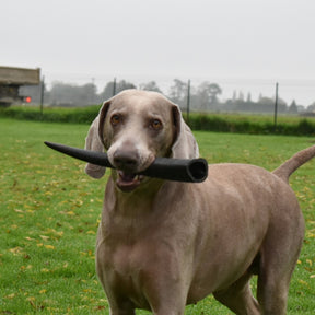
[[(96, 271), (110, 315), (136, 308), (183, 315), (209, 294), (235, 314), (285, 314), (304, 237), (290, 175), (315, 145), (272, 173), (209, 165), (203, 183), (137, 175), (156, 156), (198, 158), (178, 106), (156, 92), (127, 90), (105, 102), (85, 149), (106, 150), (112, 170), (96, 241)], [(101, 178), (105, 168), (88, 164)], [(257, 300), (249, 279), (258, 276)]]

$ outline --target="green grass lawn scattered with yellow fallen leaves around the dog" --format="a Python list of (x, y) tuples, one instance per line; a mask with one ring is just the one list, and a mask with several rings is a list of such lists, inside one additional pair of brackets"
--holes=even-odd
[[(0, 119), (0, 314), (108, 314), (94, 244), (105, 179), (43, 141), (83, 147), (88, 125)], [(314, 138), (195, 132), (209, 163), (272, 170)], [(315, 161), (291, 177), (306, 221), (288, 314), (315, 314)], [(255, 281), (253, 281), (255, 283)], [(149, 314), (137, 312), (137, 314)], [(232, 314), (212, 296), (188, 315)]]

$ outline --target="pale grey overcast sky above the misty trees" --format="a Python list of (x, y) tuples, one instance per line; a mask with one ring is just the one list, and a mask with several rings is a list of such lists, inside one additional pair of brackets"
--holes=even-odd
[(38, 67), (48, 86), (178, 78), (231, 97), (279, 82), (287, 102), (315, 101), (314, 0), (0, 1), (0, 66)]

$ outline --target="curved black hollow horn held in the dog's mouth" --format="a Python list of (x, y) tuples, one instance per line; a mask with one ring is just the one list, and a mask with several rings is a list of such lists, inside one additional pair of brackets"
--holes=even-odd
[[(107, 154), (68, 147), (45, 141), (45, 144), (56, 151), (91, 164), (114, 168)], [(161, 179), (201, 183), (208, 176), (208, 163), (205, 159), (168, 159), (156, 158), (154, 162), (140, 174)]]

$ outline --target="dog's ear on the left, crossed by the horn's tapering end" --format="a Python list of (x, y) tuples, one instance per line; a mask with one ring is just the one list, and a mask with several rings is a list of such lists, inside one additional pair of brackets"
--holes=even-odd
[[(85, 150), (104, 152), (103, 128), (106, 113), (109, 107), (109, 102), (105, 102), (98, 113), (98, 116), (92, 122), (88, 137), (85, 138)], [(106, 167), (88, 163), (85, 173), (93, 178), (101, 178), (104, 176)]]

